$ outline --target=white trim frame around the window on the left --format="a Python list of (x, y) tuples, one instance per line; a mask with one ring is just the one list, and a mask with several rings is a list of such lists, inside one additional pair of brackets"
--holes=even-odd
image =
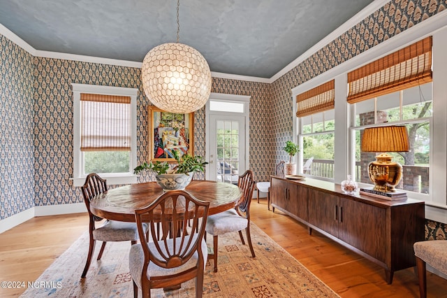
[(107, 179), (108, 185), (137, 183), (138, 176), (133, 174), (137, 163), (137, 96), (138, 89), (71, 83), (73, 86), (73, 186), (85, 183), (86, 175), (82, 174), (82, 152), (80, 151), (81, 93), (121, 95), (131, 97), (131, 151), (128, 173), (107, 173), (101, 176)]

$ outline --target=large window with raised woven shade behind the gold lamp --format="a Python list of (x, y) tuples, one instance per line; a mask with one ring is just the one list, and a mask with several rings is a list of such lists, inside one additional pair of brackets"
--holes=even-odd
[(367, 166), (381, 153), (360, 151), (363, 129), (406, 125), (409, 152), (386, 152), (403, 166), (403, 178), (396, 188), (430, 193), (431, 66), (430, 36), (348, 73), (351, 144), (355, 148), (351, 172), (359, 183), (371, 183)]

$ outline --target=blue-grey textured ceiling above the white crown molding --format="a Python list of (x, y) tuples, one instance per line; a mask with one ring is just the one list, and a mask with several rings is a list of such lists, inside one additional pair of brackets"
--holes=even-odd
[[(36, 50), (142, 62), (175, 42), (175, 0), (0, 0), (0, 23)], [(271, 78), (366, 0), (182, 0), (180, 42), (211, 71)]]

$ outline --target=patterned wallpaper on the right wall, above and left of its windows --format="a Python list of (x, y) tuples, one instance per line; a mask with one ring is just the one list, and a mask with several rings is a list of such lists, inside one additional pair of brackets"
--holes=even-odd
[(446, 9), (447, 0), (393, 0), (272, 83), (276, 161), (292, 137), (292, 89)]

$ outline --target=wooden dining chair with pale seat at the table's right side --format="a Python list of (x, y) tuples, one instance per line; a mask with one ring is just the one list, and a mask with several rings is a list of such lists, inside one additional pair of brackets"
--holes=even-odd
[[(243, 199), (236, 208), (232, 208), (221, 213), (208, 216), (205, 231), (213, 236), (213, 260), (214, 272), (217, 272), (217, 248), (218, 236), (228, 232), (239, 232), (240, 240), (245, 245), (242, 230), (245, 229), (247, 234), (247, 242), (249, 243), (251, 256), (255, 257), (253, 245), (250, 236), (250, 204), (254, 191), (254, 175), (253, 171), (247, 170), (242, 176), (239, 176), (237, 185), (242, 190)], [(210, 255), (211, 256), (211, 255)]]

